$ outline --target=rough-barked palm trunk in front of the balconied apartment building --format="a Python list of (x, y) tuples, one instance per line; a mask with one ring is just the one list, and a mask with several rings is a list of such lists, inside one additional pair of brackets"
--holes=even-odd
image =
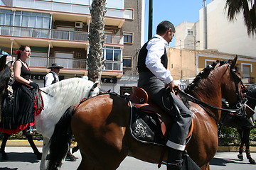
[(103, 66), (103, 46), (105, 45), (104, 19), (106, 0), (93, 0), (90, 8), (92, 23), (89, 33), (90, 50), (88, 54), (88, 78), (91, 81), (100, 81)]

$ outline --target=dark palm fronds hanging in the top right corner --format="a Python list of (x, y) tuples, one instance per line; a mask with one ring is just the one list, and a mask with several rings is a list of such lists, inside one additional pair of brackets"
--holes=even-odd
[(256, 0), (227, 0), (225, 9), (228, 8), (228, 18), (233, 21), (235, 15), (243, 11), (247, 33), (255, 34), (256, 31)]

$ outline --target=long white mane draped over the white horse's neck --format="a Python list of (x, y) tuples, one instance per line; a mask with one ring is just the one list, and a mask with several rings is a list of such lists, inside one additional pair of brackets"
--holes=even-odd
[(41, 116), (55, 120), (61, 117), (65, 110), (79, 103), (82, 98), (88, 98), (93, 82), (82, 78), (64, 79), (48, 87), (41, 88), (44, 108)]

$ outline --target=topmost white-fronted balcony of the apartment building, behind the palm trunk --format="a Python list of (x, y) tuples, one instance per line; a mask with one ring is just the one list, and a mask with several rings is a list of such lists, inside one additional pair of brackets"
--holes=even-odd
[[(2, 8), (11, 8), (17, 11), (42, 11), (43, 13), (48, 11), (53, 16), (53, 21), (63, 20), (88, 23), (91, 19), (90, 5), (92, 4), (92, 0), (6, 0), (4, 4), (6, 6), (1, 6)], [(121, 28), (125, 19), (134, 18), (134, 11), (124, 8), (124, 0), (107, 1), (106, 8), (105, 25)]]

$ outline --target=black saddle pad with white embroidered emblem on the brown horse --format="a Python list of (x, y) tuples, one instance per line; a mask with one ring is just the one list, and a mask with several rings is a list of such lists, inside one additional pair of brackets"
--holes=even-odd
[(149, 142), (159, 145), (165, 145), (166, 140), (161, 132), (161, 125), (156, 113), (147, 113), (140, 111), (133, 106), (131, 113), (130, 128), (132, 135), (136, 140)]

